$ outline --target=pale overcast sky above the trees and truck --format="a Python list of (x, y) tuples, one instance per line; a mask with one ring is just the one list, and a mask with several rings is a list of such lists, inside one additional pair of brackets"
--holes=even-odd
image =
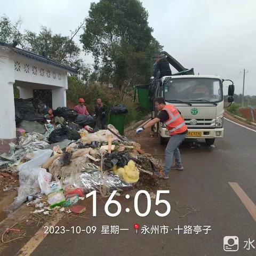
[[(90, 0), (0, 0), (0, 14), (22, 19), (21, 29), (40, 27), (70, 35), (88, 15)], [(98, 2), (98, 1), (94, 1)], [(256, 1), (143, 0), (155, 38), (186, 68), (234, 81), (235, 93), (256, 95)], [(79, 42), (79, 37), (76, 38)], [(92, 63), (91, 57), (85, 57)], [(226, 84), (228, 85), (228, 84)], [(225, 86), (226, 91), (226, 86)]]

